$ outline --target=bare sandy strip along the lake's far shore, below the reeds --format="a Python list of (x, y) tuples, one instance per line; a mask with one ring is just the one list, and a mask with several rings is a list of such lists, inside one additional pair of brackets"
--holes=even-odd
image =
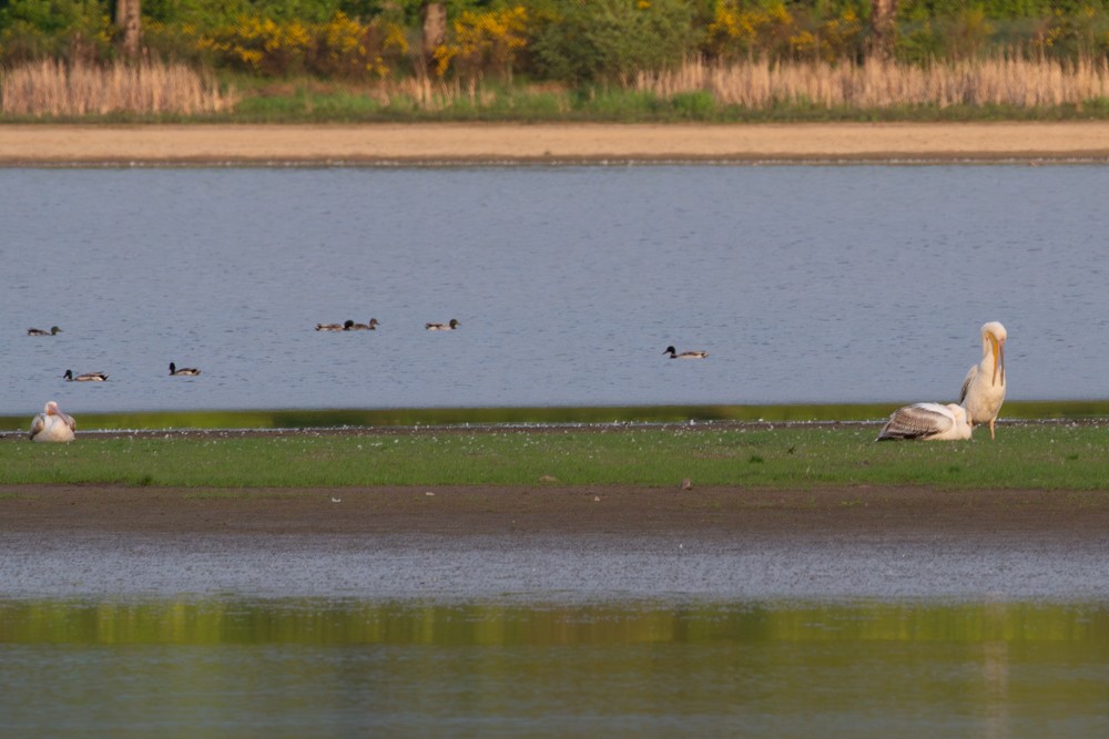
[(0, 125), (0, 165), (1109, 162), (1109, 123)]

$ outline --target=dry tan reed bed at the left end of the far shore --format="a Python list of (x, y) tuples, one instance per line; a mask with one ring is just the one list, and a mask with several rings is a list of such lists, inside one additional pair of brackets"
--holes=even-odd
[(101, 66), (48, 59), (4, 70), (0, 79), (0, 111), (13, 116), (196, 115), (235, 102), (213, 78), (162, 62)]

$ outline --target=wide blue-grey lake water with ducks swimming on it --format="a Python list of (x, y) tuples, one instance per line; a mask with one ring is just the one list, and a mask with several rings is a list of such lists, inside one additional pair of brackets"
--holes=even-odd
[(1010, 399), (1109, 398), (1103, 166), (3, 170), (0, 188), (6, 413), (946, 401), (987, 320)]

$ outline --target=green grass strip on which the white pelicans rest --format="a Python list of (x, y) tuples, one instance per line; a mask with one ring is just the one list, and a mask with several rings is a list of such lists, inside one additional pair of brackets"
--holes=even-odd
[(373, 485), (856, 485), (1105, 491), (1101, 424), (1009, 424), (968, 442), (876, 443), (876, 428), (674, 427), (367, 434), (79, 438), (0, 443), (8, 484), (215, 487)]

